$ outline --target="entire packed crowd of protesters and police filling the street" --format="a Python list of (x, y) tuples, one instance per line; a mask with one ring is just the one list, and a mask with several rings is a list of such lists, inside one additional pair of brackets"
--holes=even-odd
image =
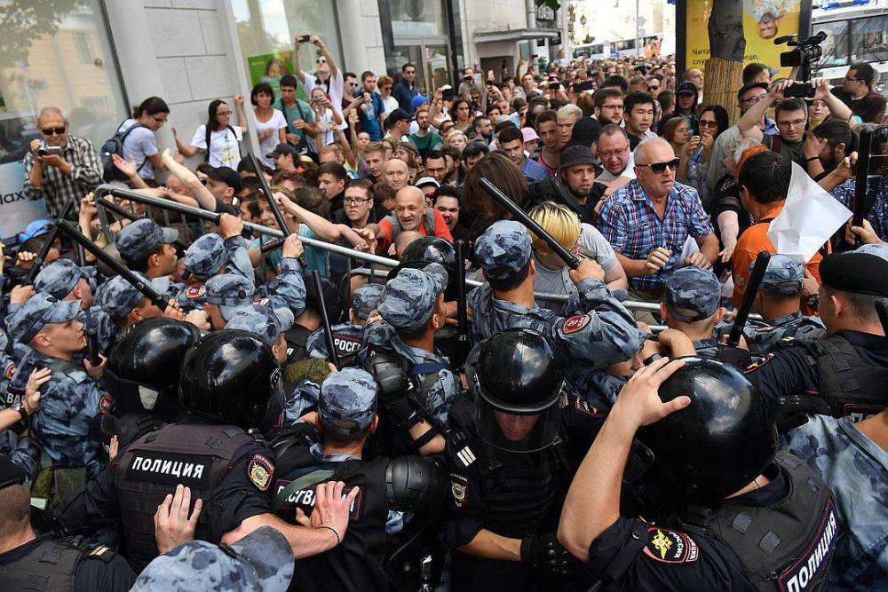
[(768, 235), (798, 176), (861, 199), (873, 67), (719, 106), (668, 56), (294, 55), (175, 146), (159, 97), (100, 152), (40, 111), (5, 588), (888, 587), (888, 177), (806, 261)]

